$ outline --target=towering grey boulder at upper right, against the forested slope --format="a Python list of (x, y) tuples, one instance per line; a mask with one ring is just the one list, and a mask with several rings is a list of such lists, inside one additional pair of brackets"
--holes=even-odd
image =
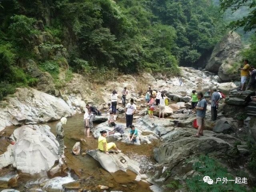
[(234, 60), (241, 48), (241, 37), (236, 32), (229, 32), (214, 47), (211, 58), (206, 64), (206, 70), (218, 73), (220, 66), (226, 64), (226, 60)]

